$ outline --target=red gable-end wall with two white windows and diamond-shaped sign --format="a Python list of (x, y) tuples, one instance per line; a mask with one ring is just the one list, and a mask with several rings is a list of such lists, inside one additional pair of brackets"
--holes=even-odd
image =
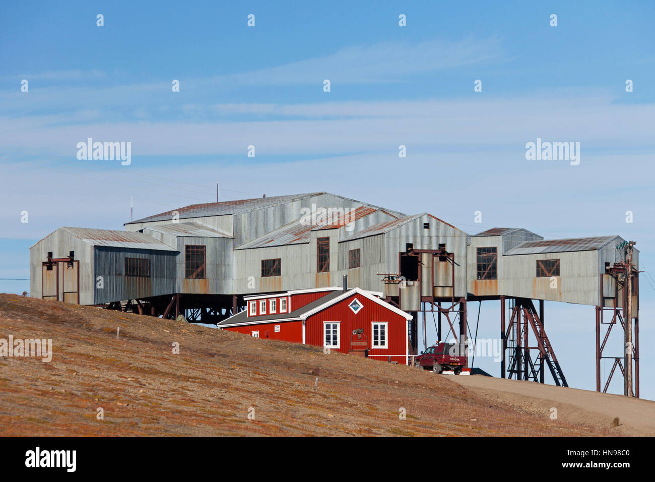
[[(357, 313), (348, 306), (355, 299), (362, 306)], [(339, 326), (339, 348), (332, 348), (333, 351), (348, 353), (351, 349), (357, 350), (361, 347), (351, 346), (351, 342), (365, 340), (369, 357), (382, 361), (395, 361), (403, 365), (407, 363), (407, 319), (384, 304), (353, 293), (325, 310), (310, 315), (305, 321), (307, 344), (324, 346), (325, 323), (338, 323)], [(373, 323), (387, 323), (387, 348), (373, 348)], [(361, 340), (357, 335), (352, 334), (356, 329), (364, 330)]]

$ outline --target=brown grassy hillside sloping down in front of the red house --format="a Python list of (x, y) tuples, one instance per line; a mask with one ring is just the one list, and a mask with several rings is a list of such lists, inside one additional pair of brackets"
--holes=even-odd
[(52, 338), (53, 353), (50, 363), (0, 357), (0, 435), (622, 434), (412, 367), (0, 294), (9, 335)]

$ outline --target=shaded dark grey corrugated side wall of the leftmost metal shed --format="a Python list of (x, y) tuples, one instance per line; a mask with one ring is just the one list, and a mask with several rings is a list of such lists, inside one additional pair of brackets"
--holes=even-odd
[[(94, 283), (94, 304), (174, 293), (176, 254), (174, 251), (96, 247), (93, 279), (102, 276), (104, 287), (97, 288)], [(125, 276), (126, 257), (149, 259), (150, 277)]]

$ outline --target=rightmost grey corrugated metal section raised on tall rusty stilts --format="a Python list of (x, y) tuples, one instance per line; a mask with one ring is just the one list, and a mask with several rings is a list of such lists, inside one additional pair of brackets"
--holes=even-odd
[[(605, 296), (614, 297), (614, 281), (605, 273), (623, 261), (616, 249), (623, 241), (617, 235), (544, 240), (524, 229), (483, 231), (468, 247), (468, 292), (600, 306), (603, 279)], [(639, 252), (633, 252), (638, 269)]]

